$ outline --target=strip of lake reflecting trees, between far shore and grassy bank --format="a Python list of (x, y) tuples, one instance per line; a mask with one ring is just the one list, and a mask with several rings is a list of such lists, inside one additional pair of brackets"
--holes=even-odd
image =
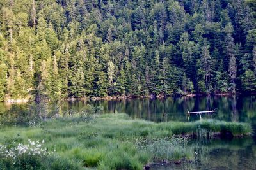
[[(17, 117), (20, 114), (41, 115), (72, 115), (88, 109), (88, 104), (101, 106), (104, 113), (127, 113), (132, 118), (142, 118), (154, 122), (187, 121), (187, 110), (209, 111), (216, 109), (214, 115), (205, 114), (202, 118), (216, 118), (232, 122), (248, 122), (256, 124), (256, 97), (180, 97), (167, 99), (128, 99), (120, 101), (60, 101), (44, 103), (42, 106), (30, 104), (0, 103), (0, 117), (9, 115)], [(47, 115), (45, 115), (47, 114)], [(199, 116), (191, 116), (190, 121), (199, 120)]]

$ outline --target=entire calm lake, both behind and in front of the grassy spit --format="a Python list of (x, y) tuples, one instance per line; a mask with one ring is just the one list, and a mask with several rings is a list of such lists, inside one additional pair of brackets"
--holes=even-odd
[[(213, 115), (202, 115), (203, 119), (214, 118), (228, 122), (248, 122), (256, 129), (256, 96), (215, 96), (215, 97), (180, 97), (166, 99), (127, 99), (116, 101), (73, 101), (44, 104), (46, 117), (52, 115), (72, 115), (88, 109), (88, 104), (99, 106), (102, 113), (127, 113), (132, 118), (140, 118), (154, 122), (194, 121), (200, 120), (199, 115), (187, 117), (189, 111), (207, 111), (216, 109)], [(1, 117), (6, 119), (26, 117), (36, 113), (35, 104), (0, 103)], [(23, 117), (17, 118), (17, 120)], [(29, 120), (29, 119), (28, 119)], [(22, 122), (22, 120), (20, 120)], [(255, 137), (236, 139), (205, 139), (191, 140), (191, 145), (205, 148), (198, 153), (193, 164), (171, 166), (155, 165), (152, 169), (256, 169)]]

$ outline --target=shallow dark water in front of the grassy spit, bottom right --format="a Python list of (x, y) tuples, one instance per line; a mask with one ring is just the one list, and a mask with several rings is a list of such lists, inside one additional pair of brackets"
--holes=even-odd
[(196, 161), (175, 165), (154, 165), (151, 169), (256, 169), (256, 142), (253, 138), (191, 141)]

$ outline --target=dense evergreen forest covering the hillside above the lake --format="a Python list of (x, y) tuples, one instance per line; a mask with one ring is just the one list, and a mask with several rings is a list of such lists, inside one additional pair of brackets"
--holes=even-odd
[(256, 91), (255, 0), (1, 0), (0, 99)]

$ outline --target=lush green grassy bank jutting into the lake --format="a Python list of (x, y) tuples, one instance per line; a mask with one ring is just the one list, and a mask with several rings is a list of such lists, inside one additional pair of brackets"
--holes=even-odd
[(44, 141), (42, 147), (46, 150), (32, 159), (29, 154), (21, 155), (15, 158), (19, 164), (16, 161), (14, 165), (12, 158), (0, 157), (0, 169), (143, 169), (150, 162), (194, 159), (194, 148), (173, 135), (210, 138), (214, 134), (241, 136), (251, 131), (248, 124), (218, 120), (156, 124), (132, 120), (126, 114), (56, 118), (35, 127), (2, 127), (1, 145), (19, 152), (17, 145), (31, 139)]

